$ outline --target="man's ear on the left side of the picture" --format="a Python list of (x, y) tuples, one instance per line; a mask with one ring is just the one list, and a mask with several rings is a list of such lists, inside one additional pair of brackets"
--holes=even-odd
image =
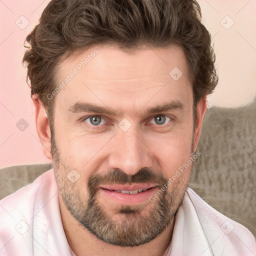
[(40, 100), (37, 98), (35, 94), (31, 95), (33, 100), (34, 108), (35, 108), (35, 125), (38, 137), (40, 139), (43, 153), (48, 159), (51, 159), (50, 153), (50, 126), (48, 117), (44, 111), (44, 107)]

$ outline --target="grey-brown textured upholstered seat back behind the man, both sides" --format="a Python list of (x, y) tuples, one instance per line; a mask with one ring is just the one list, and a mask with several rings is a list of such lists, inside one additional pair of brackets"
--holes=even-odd
[[(207, 110), (189, 186), (201, 198), (256, 236), (256, 101)], [(51, 164), (0, 170), (0, 198), (31, 183)]]

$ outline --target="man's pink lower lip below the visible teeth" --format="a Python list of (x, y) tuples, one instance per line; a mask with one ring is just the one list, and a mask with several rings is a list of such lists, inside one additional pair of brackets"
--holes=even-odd
[(157, 191), (157, 187), (151, 187), (145, 191), (136, 194), (126, 194), (121, 192), (110, 191), (108, 189), (99, 188), (99, 191), (103, 193), (104, 196), (110, 198), (111, 200), (120, 204), (138, 204), (149, 200), (149, 197)]

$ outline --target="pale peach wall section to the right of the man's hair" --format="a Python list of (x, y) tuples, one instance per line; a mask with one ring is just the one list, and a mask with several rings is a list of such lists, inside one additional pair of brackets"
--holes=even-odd
[[(209, 105), (247, 104), (256, 93), (256, 1), (198, 0), (214, 36), (219, 83)], [(253, 95), (253, 96), (252, 96)]]

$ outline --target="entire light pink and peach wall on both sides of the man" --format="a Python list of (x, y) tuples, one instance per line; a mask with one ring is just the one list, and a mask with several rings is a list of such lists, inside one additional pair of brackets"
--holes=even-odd
[[(48, 2), (0, 1), (0, 168), (49, 162), (36, 133), (30, 90), (25, 82), (26, 70), (21, 64), (25, 36)], [(252, 101), (256, 93), (256, 1), (198, 2), (204, 24), (214, 36), (219, 70), (219, 85), (209, 97), (209, 104), (236, 106)], [(28, 124), (23, 131), (19, 129), (23, 124), (20, 119)]]

